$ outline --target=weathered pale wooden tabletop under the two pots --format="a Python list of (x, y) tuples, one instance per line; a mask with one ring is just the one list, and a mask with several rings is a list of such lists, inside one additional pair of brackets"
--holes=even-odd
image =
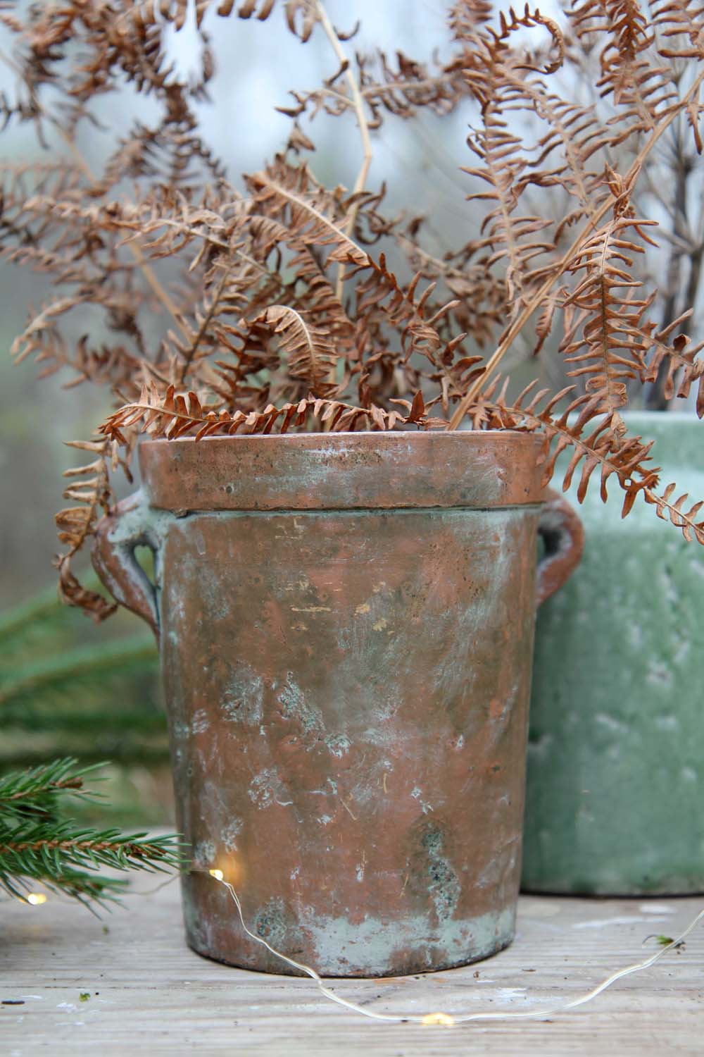
[[(135, 891), (153, 889), (144, 878)], [(469, 1013), (568, 1001), (653, 950), (648, 933), (678, 934), (701, 898), (522, 896), (512, 947), (463, 969), (395, 980), (341, 981), (341, 995), (385, 1012)], [(190, 951), (178, 886), (127, 900), (99, 921), (51, 896), (0, 905), (0, 1052), (445, 1057), (629, 1057), (701, 1054), (704, 928), (680, 953), (628, 977), (551, 1022), (421, 1027), (367, 1021), (326, 1001), (312, 981), (228, 968)], [(103, 924), (109, 932), (103, 932)], [(477, 976), (478, 973), (478, 976)], [(90, 993), (80, 1001), (81, 993)]]

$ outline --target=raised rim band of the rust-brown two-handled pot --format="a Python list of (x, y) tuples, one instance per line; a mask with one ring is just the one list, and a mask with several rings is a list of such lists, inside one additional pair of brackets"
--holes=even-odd
[(518, 430), (237, 433), (144, 441), (139, 465), (160, 509), (487, 509), (543, 502), (545, 451)]

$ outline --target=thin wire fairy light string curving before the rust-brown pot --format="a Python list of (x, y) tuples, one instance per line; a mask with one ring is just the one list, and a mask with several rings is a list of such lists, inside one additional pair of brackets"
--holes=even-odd
[(261, 944), (263, 947), (274, 956), (279, 958), (282, 962), (286, 962), (287, 965), (291, 965), (294, 969), (299, 969), (306, 976), (310, 977), (318, 986), (325, 998), (329, 999), (331, 1002), (337, 1002), (338, 1005), (343, 1005), (345, 1008), (350, 1009), (353, 1013), (361, 1014), (363, 1017), (369, 1017), (372, 1020), (384, 1020), (395, 1024), (424, 1024), (424, 1025), (438, 1025), (443, 1027), (452, 1027), (456, 1024), (468, 1024), (470, 1021), (474, 1020), (539, 1020), (541, 1018), (553, 1017), (559, 1013), (567, 1013), (570, 1009), (576, 1009), (577, 1006), (586, 1005), (587, 1002), (591, 1002), (595, 999), (597, 995), (605, 991), (607, 987), (610, 987), (617, 980), (622, 980), (624, 977), (628, 977), (633, 972), (641, 972), (644, 969), (650, 968), (655, 962), (660, 961), (664, 954), (669, 950), (672, 950), (679, 944), (681, 944), (690, 932), (699, 925), (699, 923), (704, 917), (704, 908), (700, 910), (695, 920), (687, 926), (684, 932), (681, 932), (677, 939), (671, 940), (666, 946), (661, 947), (657, 950), (650, 958), (645, 959), (643, 962), (636, 962), (633, 965), (627, 965), (623, 969), (617, 969), (612, 972), (611, 976), (603, 980), (601, 984), (593, 987), (590, 991), (582, 995), (579, 998), (572, 999), (570, 1002), (563, 1002), (559, 1005), (548, 1006), (545, 1009), (520, 1009), (520, 1010), (509, 1010), (509, 1012), (487, 1012), (487, 1013), (469, 1013), (461, 1014), (459, 1016), (454, 1016), (449, 1013), (427, 1013), (421, 1014), (394, 1014), (394, 1013), (375, 1013), (365, 1006), (357, 1005), (356, 1002), (350, 1002), (346, 998), (342, 998), (340, 995), (336, 995), (334, 990), (330, 990), (324, 983), (322, 978), (316, 972), (313, 968), (309, 965), (305, 965), (303, 962), (297, 962), (296, 959), (289, 958), (287, 954), (283, 954), (275, 947), (272, 947), (263, 937), (256, 935), (249, 929), (245, 923), (244, 914), (242, 911), (242, 904), (240, 903), (240, 897), (234, 889), (234, 886), (225, 879), (225, 875), (222, 870), (197, 870), (197, 873), (209, 874), (217, 884), (222, 885), (229, 892), (232, 902), (234, 903), (237, 915), (240, 917), (240, 923), (246, 932), (246, 934), (253, 940), (255, 943)]

